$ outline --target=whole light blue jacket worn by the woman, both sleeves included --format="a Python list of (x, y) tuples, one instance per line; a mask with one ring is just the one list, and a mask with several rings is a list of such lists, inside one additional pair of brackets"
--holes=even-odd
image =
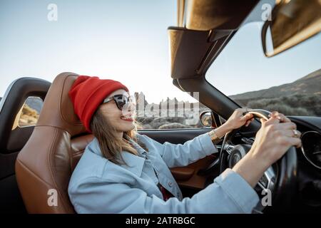
[[(230, 169), (193, 197), (183, 198), (169, 168), (184, 167), (218, 152), (207, 133), (183, 145), (161, 144), (146, 135), (137, 137), (148, 152), (131, 141), (139, 156), (123, 151), (123, 160), (129, 166), (116, 165), (104, 158), (96, 138), (87, 145), (68, 185), (76, 212), (250, 213), (258, 203), (253, 188)], [(158, 181), (175, 197), (164, 201)]]

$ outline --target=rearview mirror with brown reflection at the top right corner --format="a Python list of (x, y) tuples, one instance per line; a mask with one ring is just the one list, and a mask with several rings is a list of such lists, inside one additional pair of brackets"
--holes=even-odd
[(262, 28), (265, 56), (275, 56), (320, 31), (321, 0), (279, 0)]

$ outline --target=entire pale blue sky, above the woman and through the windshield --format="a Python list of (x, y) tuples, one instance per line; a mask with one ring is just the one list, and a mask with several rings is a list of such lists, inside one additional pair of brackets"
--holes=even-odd
[[(57, 21), (49, 21), (49, 4)], [(174, 0), (0, 0), (0, 96), (23, 76), (52, 82), (69, 71), (111, 78), (148, 103), (193, 101), (170, 78), (168, 26), (176, 25)], [(227, 95), (290, 83), (321, 68), (321, 37), (274, 58), (263, 56), (260, 25), (238, 31), (208, 71)], [(240, 86), (242, 85), (242, 86)]]

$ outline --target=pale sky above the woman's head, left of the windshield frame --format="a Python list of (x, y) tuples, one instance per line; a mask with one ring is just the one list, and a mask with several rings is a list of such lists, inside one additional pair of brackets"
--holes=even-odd
[[(48, 21), (48, 4), (58, 21)], [(0, 0), (0, 96), (16, 78), (71, 71), (111, 78), (148, 102), (183, 94), (170, 78), (173, 0)], [(184, 97), (188, 97), (187, 95)]]

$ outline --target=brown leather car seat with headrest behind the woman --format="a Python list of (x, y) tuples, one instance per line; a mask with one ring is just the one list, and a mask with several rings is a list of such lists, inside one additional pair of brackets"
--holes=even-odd
[[(68, 97), (77, 77), (76, 73), (61, 73), (55, 78), (34, 132), (16, 159), (16, 178), (29, 213), (75, 212), (68, 198), (68, 182), (93, 139), (73, 112)], [(49, 203), (55, 195), (53, 190), (58, 193), (56, 205)]]

